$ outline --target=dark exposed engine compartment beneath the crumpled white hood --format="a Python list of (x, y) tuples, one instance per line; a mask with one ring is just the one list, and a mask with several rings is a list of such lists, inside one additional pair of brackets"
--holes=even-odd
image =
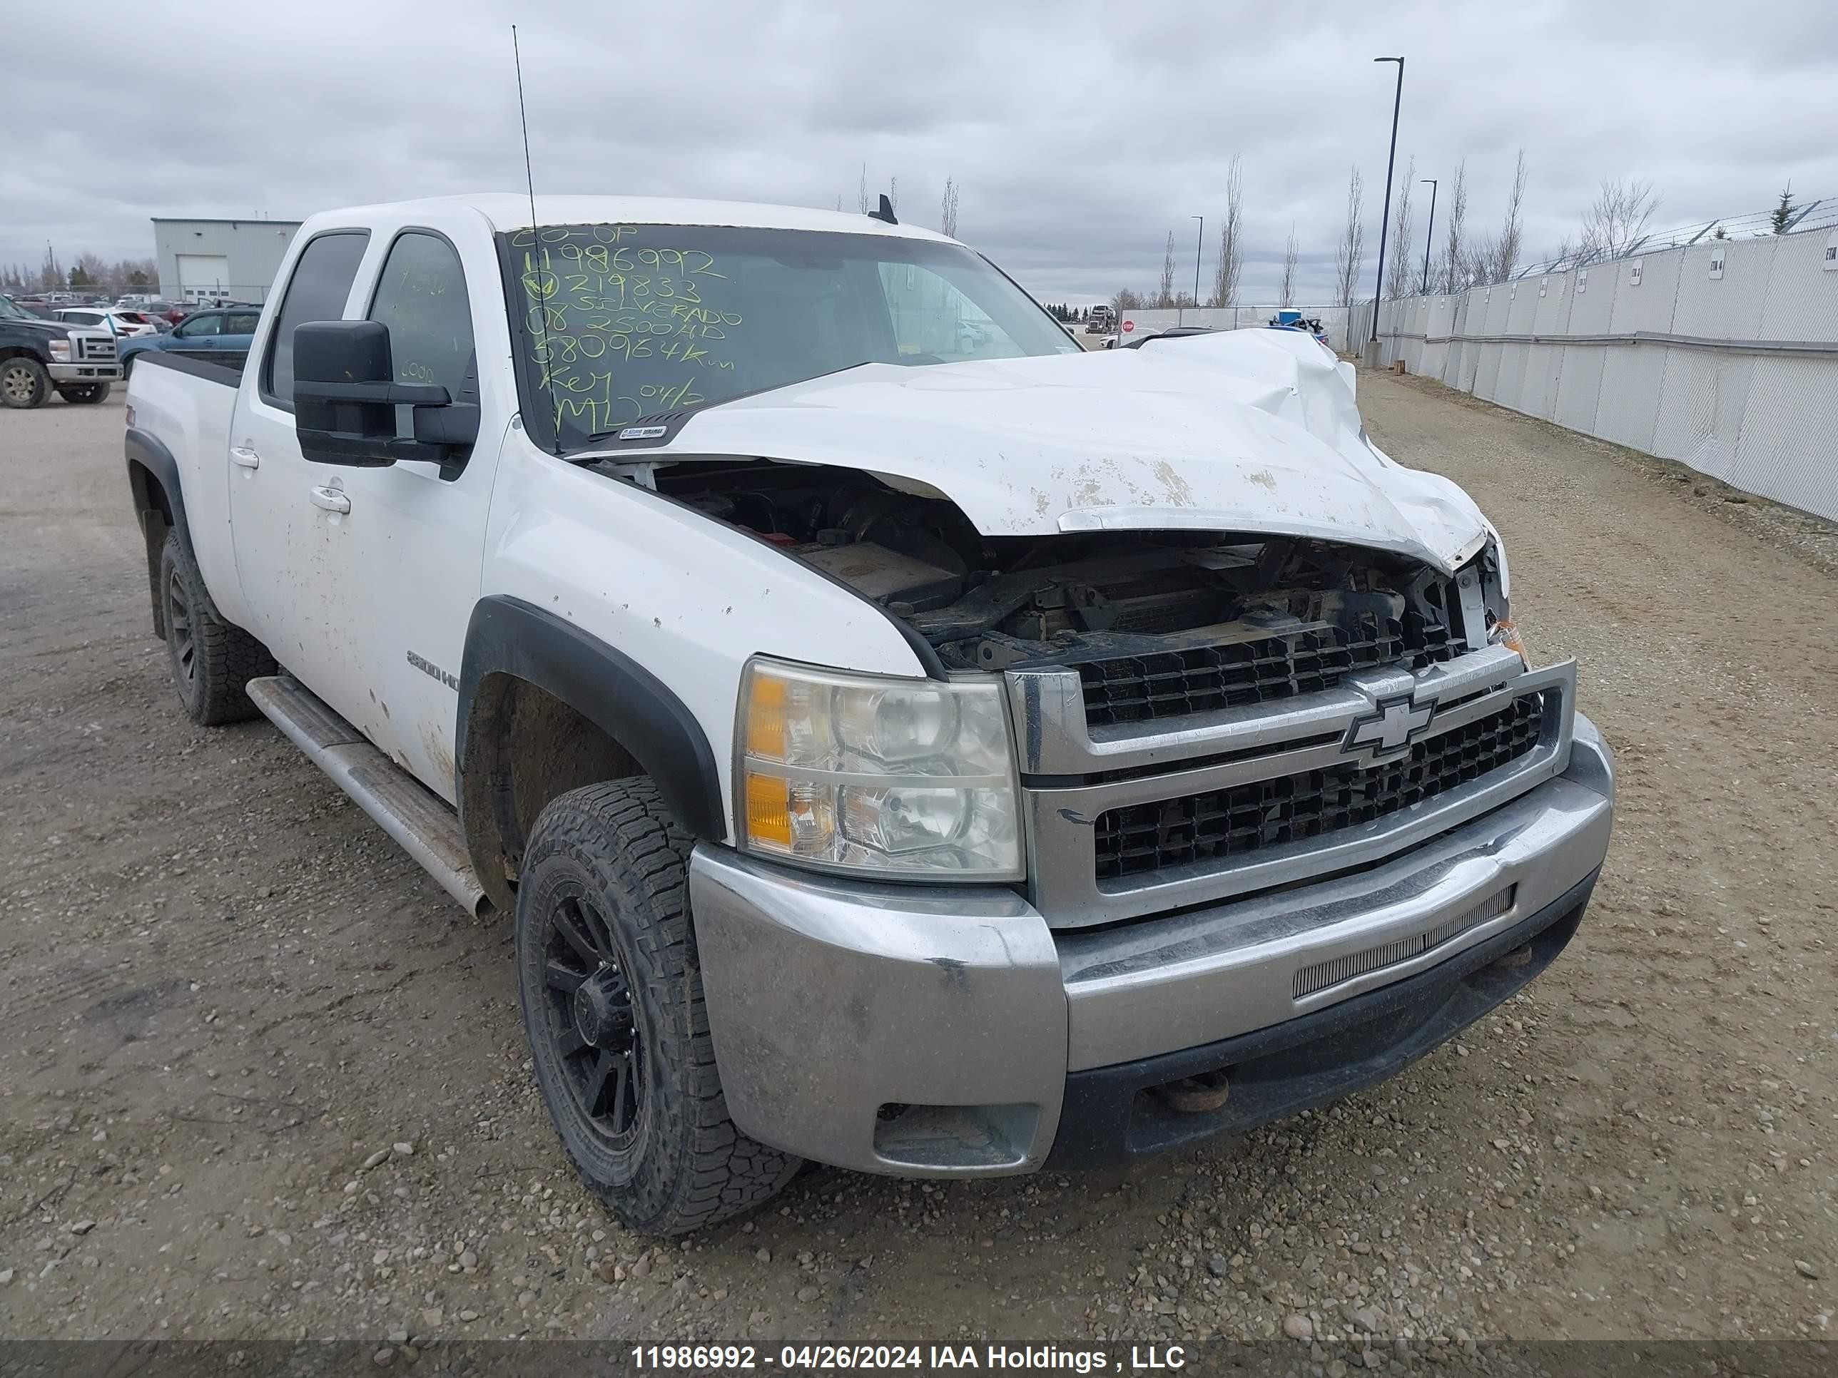
[[(1180, 672), (1198, 656), (1211, 672), (1222, 649), (1255, 663), (1281, 643), (1294, 678), (1296, 645), (1325, 674), (1447, 660), (1461, 641), (1447, 575), (1366, 548), (1209, 531), (991, 538), (948, 500), (816, 465), (691, 461), (652, 481), (879, 603), (948, 669), (1066, 665), (1101, 682), (1130, 658), (1176, 656)], [(1211, 706), (1186, 693), (1119, 718)]]

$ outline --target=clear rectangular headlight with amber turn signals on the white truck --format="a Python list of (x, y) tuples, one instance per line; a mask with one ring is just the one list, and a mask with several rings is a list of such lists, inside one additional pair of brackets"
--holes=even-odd
[(994, 680), (754, 660), (737, 726), (746, 851), (858, 875), (1020, 880), (1015, 753)]

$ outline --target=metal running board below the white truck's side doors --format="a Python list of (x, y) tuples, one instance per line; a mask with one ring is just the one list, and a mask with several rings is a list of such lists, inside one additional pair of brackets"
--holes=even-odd
[(432, 790), (371, 746), (364, 733), (333, 713), (290, 674), (248, 682), (255, 707), (331, 775), (333, 785), (351, 796), (441, 889), (472, 915), (491, 913), (472, 862), (467, 858), (460, 816)]

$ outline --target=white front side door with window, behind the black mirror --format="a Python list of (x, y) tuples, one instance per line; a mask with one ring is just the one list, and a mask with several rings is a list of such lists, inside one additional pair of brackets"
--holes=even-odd
[[(259, 388), (244, 390), (255, 395), (233, 432), (252, 452), (233, 454), (237, 571), (265, 614), (276, 660), (454, 803), (458, 676), (478, 601), (494, 437), (507, 417), (496, 430), (485, 417), (474, 454), (445, 467), (303, 457), (292, 408), (300, 323), (380, 322), (395, 382), (441, 386), (452, 399), (478, 391), (472, 307), (452, 241), (404, 228), (386, 243), (333, 244), (314, 257), (336, 237), (307, 244), (263, 345)], [(395, 413), (397, 435), (412, 439), (412, 408)], [(386, 450), (379, 439), (377, 457)]]

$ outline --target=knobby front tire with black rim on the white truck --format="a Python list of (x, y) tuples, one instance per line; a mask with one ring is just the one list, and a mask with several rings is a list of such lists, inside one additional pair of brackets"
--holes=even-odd
[[(748, 1211), (801, 1165), (728, 1119), (689, 917), (689, 847), (649, 779), (588, 785), (542, 810), (516, 887), (518, 994), (550, 1119), (594, 1194), (625, 1226), (656, 1237)], [(564, 1066), (583, 1053), (564, 1053), (566, 1034), (557, 1033), (555, 1005), (566, 1000), (557, 994), (551, 959), (557, 924), (588, 911), (597, 911), (594, 922), (605, 921), (614, 966), (629, 977), (640, 1095), (629, 1141), (608, 1134), (618, 1101), (601, 1119), (583, 1108)]]

